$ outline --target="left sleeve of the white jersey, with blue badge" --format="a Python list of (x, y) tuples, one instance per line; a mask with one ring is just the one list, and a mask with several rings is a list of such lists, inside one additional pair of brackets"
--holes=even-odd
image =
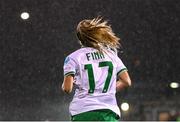
[(66, 57), (64, 61), (64, 76), (75, 75), (76, 73), (76, 62), (71, 57)]

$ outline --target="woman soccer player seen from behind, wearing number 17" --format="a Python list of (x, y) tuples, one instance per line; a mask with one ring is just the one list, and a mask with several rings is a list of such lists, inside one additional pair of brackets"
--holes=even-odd
[(120, 110), (115, 93), (131, 85), (127, 68), (117, 56), (120, 39), (99, 17), (81, 21), (77, 37), (82, 47), (66, 57), (62, 84), (67, 93), (76, 86), (69, 107), (71, 120), (116, 121)]

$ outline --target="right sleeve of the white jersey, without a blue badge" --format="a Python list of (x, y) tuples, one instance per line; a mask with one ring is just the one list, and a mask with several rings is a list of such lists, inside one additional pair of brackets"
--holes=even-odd
[(124, 65), (124, 63), (122, 62), (122, 60), (119, 57), (117, 57), (116, 71), (117, 71), (117, 76), (120, 75), (122, 72), (127, 71), (126, 66)]

